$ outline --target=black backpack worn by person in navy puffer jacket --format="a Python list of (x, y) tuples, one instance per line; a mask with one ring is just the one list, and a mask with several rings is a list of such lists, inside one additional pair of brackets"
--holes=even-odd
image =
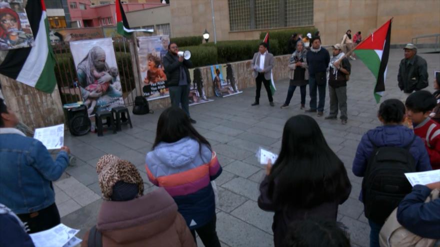
[(374, 151), (362, 180), (362, 199), (365, 217), (376, 224), (384, 223), (412, 190), (404, 173), (415, 172), (415, 160), (409, 153), (414, 140), (415, 135), (405, 147), (378, 148), (371, 142)]

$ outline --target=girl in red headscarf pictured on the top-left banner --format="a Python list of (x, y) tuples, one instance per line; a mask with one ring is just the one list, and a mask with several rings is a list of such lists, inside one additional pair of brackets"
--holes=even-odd
[(11, 8), (0, 8), (0, 50), (29, 47), (33, 36), (21, 30), (18, 14)]

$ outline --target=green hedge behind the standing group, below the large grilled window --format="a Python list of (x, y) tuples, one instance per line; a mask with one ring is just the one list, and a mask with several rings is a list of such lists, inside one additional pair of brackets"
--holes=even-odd
[[(314, 26), (310, 26), (269, 31), (269, 45), (272, 45), (272, 40), (276, 39), (278, 40), (279, 44), (279, 54), (288, 54), (287, 43), (294, 32), (297, 34), (302, 34), (302, 37), (305, 37), (308, 32), (311, 33), (311, 35), (314, 35), (317, 30), (318, 29)], [(266, 33), (267, 32), (261, 32), (259, 34), (261, 40), (266, 36)]]

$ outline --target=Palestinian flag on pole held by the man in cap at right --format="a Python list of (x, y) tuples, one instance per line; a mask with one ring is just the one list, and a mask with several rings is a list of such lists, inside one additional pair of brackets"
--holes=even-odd
[(391, 19), (360, 42), (354, 53), (376, 77), (374, 98), (379, 103), (385, 91), (385, 77), (389, 57), (389, 42), (391, 39)]

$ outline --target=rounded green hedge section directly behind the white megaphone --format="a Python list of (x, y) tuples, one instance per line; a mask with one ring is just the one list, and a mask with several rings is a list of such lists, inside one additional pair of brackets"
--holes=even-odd
[(213, 46), (183, 46), (179, 50), (189, 50), (194, 67), (217, 64), (217, 49)]

